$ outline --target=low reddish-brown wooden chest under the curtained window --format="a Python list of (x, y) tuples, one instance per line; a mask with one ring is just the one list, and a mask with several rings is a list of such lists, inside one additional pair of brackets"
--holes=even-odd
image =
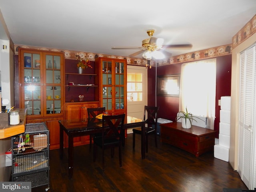
[(160, 124), (160, 127), (162, 142), (186, 150), (196, 157), (214, 149), (214, 130), (198, 126), (184, 129), (180, 122)]

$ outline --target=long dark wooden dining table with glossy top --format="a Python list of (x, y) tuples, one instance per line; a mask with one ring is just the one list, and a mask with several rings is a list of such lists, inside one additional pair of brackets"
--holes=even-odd
[[(76, 121), (78, 122), (78, 121)], [(63, 132), (68, 135), (68, 176), (72, 178), (74, 169), (74, 145), (73, 138), (85, 135), (90, 135), (92, 133), (101, 132), (101, 127), (97, 126), (100, 120), (91, 118), (80, 120), (80, 125), (72, 125), (70, 120), (60, 120), (60, 158), (63, 158)], [(70, 125), (71, 124), (71, 125)], [(124, 129), (141, 127), (145, 130), (145, 122), (142, 119), (134, 118), (131, 116), (126, 116), (124, 123)], [(124, 146), (124, 134), (123, 134), (123, 146)], [(141, 135), (141, 157), (145, 158), (145, 131), (142, 131)]]

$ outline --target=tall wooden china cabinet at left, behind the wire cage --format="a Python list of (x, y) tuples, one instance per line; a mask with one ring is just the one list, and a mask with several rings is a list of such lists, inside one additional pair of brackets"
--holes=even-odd
[(59, 148), (59, 120), (64, 118), (64, 54), (19, 48), (20, 107), (27, 123), (45, 122), (50, 149)]

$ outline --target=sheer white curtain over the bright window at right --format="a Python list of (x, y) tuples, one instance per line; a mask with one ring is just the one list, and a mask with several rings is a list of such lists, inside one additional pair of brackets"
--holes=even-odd
[(184, 63), (180, 73), (180, 111), (207, 116), (207, 128), (214, 129), (216, 59)]

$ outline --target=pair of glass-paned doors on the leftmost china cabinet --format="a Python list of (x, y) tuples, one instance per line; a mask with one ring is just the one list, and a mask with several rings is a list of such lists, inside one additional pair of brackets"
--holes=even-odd
[(63, 54), (24, 49), (20, 56), (21, 107), (28, 115), (60, 116)]

